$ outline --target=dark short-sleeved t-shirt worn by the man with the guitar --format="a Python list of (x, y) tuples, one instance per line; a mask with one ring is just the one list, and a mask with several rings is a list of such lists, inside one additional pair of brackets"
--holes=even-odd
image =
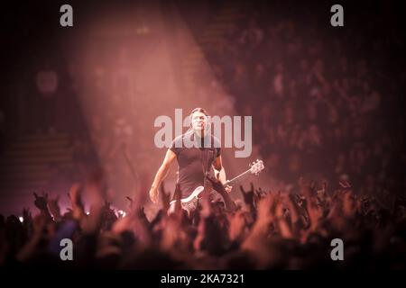
[[(196, 143), (193, 147), (186, 146), (188, 143)], [(201, 139), (188, 131), (173, 139), (171, 151), (176, 154), (178, 160), (178, 184), (182, 198), (188, 197), (198, 186), (205, 183), (205, 173), (214, 175), (213, 161), (220, 156), (219, 141), (213, 135), (207, 135)]]

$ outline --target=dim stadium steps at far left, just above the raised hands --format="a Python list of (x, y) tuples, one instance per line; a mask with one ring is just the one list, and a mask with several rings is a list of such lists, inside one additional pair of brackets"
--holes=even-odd
[(9, 142), (0, 158), (1, 210), (32, 201), (32, 192), (42, 192), (50, 183), (51, 166), (72, 168), (72, 156), (65, 133), (25, 135)]

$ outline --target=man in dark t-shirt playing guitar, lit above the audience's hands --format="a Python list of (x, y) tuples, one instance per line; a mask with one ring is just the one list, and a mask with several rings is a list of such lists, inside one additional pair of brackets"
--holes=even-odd
[[(196, 108), (190, 112), (191, 129), (173, 139), (171, 147), (166, 152), (161, 167), (155, 175), (150, 198), (152, 202), (158, 201), (159, 186), (168, 175), (171, 163), (178, 161), (178, 180), (181, 198), (188, 197), (198, 186), (209, 185), (205, 175), (214, 175), (221, 184), (226, 184), (226, 171), (221, 162), (221, 149), (219, 141), (208, 132), (208, 112), (203, 108)], [(191, 148), (185, 145), (187, 141), (195, 143)], [(231, 191), (226, 186), (226, 192)]]

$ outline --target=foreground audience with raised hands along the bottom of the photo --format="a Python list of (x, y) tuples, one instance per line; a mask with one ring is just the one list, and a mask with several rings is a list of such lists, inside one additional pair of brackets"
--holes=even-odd
[[(221, 189), (222, 185), (213, 185)], [(161, 187), (161, 210), (147, 218), (146, 194), (117, 211), (97, 172), (72, 184), (70, 207), (59, 195), (34, 193), (37, 211), (0, 216), (0, 266), (115, 269), (377, 269), (406, 268), (406, 199), (360, 196), (351, 184), (329, 190), (300, 178), (290, 193), (240, 189), (244, 202), (226, 207), (206, 198), (196, 211), (168, 214), (171, 193)], [(220, 191), (224, 193), (225, 191)], [(176, 192), (175, 192), (176, 193)], [(87, 205), (83, 198), (87, 199)], [(177, 196), (175, 196), (178, 199)], [(60, 258), (61, 240), (73, 242), (73, 260)], [(333, 261), (331, 241), (344, 243)]]

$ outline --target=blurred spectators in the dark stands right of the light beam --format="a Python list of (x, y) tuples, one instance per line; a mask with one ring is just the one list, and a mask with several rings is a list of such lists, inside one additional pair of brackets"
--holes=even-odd
[(404, 37), (375, 21), (379, 3), (346, 4), (369, 14), (334, 29), (323, 5), (254, 2), (207, 47), (217, 80), (206, 94), (222, 85), (253, 115), (254, 144), (281, 187), (306, 173), (350, 180), (358, 193), (404, 191)]

